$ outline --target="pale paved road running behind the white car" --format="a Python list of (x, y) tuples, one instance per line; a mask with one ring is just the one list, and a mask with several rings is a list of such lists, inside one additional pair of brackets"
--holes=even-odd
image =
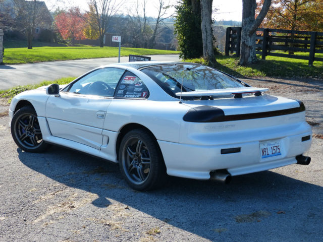
[[(179, 61), (178, 54), (147, 55), (152, 61)], [(129, 57), (121, 57), (128, 62)], [(118, 57), (77, 59), (75, 61), (41, 62), (34, 64), (0, 65), (0, 90), (17, 85), (36, 84), (44, 80), (81, 76), (93, 68), (118, 63)]]

